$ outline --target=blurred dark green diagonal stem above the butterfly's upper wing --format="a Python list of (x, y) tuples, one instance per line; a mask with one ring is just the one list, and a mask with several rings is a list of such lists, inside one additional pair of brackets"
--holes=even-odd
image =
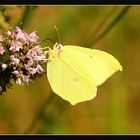
[(101, 40), (111, 29), (120, 21), (120, 19), (125, 15), (125, 13), (130, 9), (131, 6), (125, 6), (122, 11), (116, 16), (116, 18), (107, 26), (107, 28), (99, 35), (97, 38), (89, 43), (89, 46), (94, 45), (99, 40)]

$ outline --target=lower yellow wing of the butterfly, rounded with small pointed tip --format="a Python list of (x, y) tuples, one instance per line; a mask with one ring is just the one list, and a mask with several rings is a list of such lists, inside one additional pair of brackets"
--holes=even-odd
[(53, 91), (72, 105), (96, 96), (95, 81), (80, 75), (59, 58), (48, 61), (47, 76)]

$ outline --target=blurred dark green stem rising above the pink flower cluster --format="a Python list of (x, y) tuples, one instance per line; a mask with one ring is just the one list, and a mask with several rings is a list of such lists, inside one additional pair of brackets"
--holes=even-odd
[(23, 16), (22, 16), (21, 20), (18, 22), (17, 26), (20, 26), (21, 29), (26, 28), (27, 25), (29, 25), (29, 23), (34, 15), (36, 8), (37, 8), (37, 6), (26, 6)]

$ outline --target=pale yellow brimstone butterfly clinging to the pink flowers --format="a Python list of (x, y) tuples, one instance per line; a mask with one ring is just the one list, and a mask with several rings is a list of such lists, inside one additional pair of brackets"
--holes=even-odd
[(122, 71), (112, 55), (96, 49), (56, 43), (48, 55), (47, 77), (51, 88), (72, 105), (93, 99), (97, 86)]

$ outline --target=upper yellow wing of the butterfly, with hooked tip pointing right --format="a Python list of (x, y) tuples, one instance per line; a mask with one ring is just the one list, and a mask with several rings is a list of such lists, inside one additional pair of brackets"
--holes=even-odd
[(60, 53), (60, 58), (87, 79), (94, 80), (96, 85), (122, 70), (122, 66), (112, 55), (96, 49), (67, 45)]

